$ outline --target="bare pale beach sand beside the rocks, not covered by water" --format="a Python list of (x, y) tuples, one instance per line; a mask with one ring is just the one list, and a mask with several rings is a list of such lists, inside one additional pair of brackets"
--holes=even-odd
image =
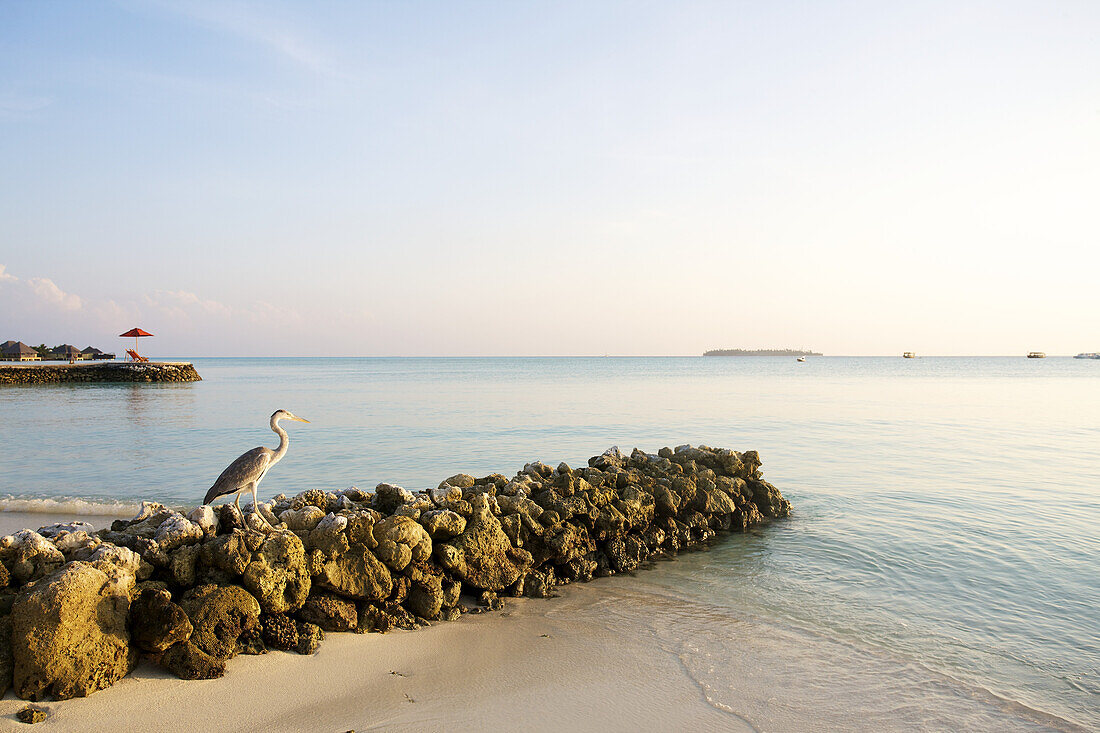
[[(80, 518), (103, 526), (113, 517)], [(0, 519), (4, 534), (62, 521)], [(596, 601), (620, 582), (631, 579), (509, 600), (503, 612), (414, 632), (329, 634), (311, 657), (239, 656), (217, 680), (184, 681), (142, 664), (88, 698), (38, 703), (50, 718), (34, 730), (751, 730), (707, 703), (651, 631), (601, 622)], [(24, 705), (9, 691), (0, 729), (28, 730), (14, 719)]]

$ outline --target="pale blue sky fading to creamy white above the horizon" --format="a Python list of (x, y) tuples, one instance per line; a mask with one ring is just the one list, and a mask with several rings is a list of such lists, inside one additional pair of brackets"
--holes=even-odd
[(0, 340), (1100, 350), (1098, 37), (1092, 0), (0, 1)]

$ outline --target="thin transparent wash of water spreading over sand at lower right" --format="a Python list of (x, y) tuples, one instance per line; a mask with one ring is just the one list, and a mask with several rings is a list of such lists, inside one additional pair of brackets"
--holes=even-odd
[[(867, 639), (735, 611), (693, 598), (686, 582), (659, 582), (659, 575), (629, 588), (607, 582), (602, 588), (613, 592), (583, 598), (604, 626), (647, 628), (708, 705), (756, 730), (1091, 730)], [(583, 613), (581, 600), (568, 612)]]

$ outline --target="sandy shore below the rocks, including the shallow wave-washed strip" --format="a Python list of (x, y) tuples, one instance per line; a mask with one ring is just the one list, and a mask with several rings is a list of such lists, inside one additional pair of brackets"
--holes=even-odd
[[(110, 524), (102, 515), (30, 516), (43, 524)], [(708, 554), (564, 586), (551, 599), (507, 599), (501, 611), (416, 631), (329, 634), (312, 655), (239, 656), (218, 679), (180, 680), (146, 660), (87, 698), (34, 704), (48, 712), (43, 730), (105, 733), (185, 725), (360, 733), (903, 731), (920, 727), (909, 704), (917, 708), (915, 720), (932, 727), (970, 721), (983, 730), (1087, 730), (930, 670), (915, 675), (881, 652), (685, 601), (678, 578), (707, 562)], [(730, 653), (706, 655), (700, 666), (693, 632), (684, 632), (704, 621), (717, 622)], [(882, 709), (893, 703), (883, 692), (904, 686), (914, 688), (913, 700)], [(9, 690), (0, 698), (0, 720), (14, 726), (26, 704)]]

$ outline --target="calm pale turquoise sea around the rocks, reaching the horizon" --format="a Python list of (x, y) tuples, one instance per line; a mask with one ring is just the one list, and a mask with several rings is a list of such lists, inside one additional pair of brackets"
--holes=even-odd
[[(583, 463), (610, 445), (755, 448), (794, 516), (646, 573), (654, 592), (697, 611), (693, 641), (681, 633), (675, 653), (708, 700), (737, 709), (766, 697), (732, 681), (735, 663), (746, 663), (737, 649), (747, 647), (730, 639), (748, 623), (757, 633), (744, 638), (759, 639), (760, 630), (796, 638), (781, 648), (798, 646), (800, 658), (783, 664), (825, 678), (792, 688), (801, 712), (757, 705), (749, 718), (760, 727), (834, 720), (937, 729), (954, 720), (1100, 730), (1100, 362), (196, 366), (205, 381), (195, 384), (0, 389), (2, 506), (61, 497), (197, 503), (239, 453), (275, 445), (266, 420), (279, 407), (312, 424), (288, 426), (290, 449), (261, 485), (265, 496), (380, 481), (433, 486), (460, 471), (512, 473), (534, 459)], [(883, 687), (872, 694), (860, 675), (877, 665)], [(850, 718), (831, 719), (828, 702), (839, 698)], [(960, 708), (944, 723), (921, 712), (937, 701), (954, 710), (948, 698), (979, 700), (1002, 716), (967, 718)]]

